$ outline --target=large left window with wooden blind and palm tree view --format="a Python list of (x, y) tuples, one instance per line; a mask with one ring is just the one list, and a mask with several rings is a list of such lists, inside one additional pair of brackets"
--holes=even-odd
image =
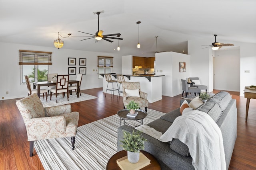
[(52, 52), (19, 50), (20, 81), (26, 83), (24, 75), (31, 82), (47, 81)]

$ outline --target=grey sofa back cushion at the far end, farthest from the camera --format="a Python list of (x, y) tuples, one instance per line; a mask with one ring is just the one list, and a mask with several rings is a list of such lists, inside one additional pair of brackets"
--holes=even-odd
[(217, 103), (220, 106), (220, 110), (224, 111), (231, 99), (232, 98), (228, 92), (221, 91), (215, 94), (208, 101)]

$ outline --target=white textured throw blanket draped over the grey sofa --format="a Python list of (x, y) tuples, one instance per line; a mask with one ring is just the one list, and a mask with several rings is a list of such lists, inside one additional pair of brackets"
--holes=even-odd
[(173, 138), (188, 146), (196, 170), (226, 170), (222, 133), (207, 113), (192, 110), (177, 117), (160, 141)]

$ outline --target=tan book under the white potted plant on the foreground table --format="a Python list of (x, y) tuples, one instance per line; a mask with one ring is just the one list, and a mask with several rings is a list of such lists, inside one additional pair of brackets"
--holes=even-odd
[(140, 170), (150, 164), (150, 159), (140, 152), (140, 160), (136, 164), (130, 163), (127, 156), (116, 160), (116, 163), (122, 170)]

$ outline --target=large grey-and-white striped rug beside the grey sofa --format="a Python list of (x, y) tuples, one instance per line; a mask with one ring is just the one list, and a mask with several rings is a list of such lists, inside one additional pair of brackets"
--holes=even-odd
[[(162, 115), (164, 113), (148, 109), (144, 124)], [(117, 115), (112, 115), (78, 127), (74, 150), (70, 137), (36, 141), (34, 147), (44, 169), (106, 170), (108, 160), (117, 152), (119, 120)], [(131, 125), (135, 122), (129, 121)]]

